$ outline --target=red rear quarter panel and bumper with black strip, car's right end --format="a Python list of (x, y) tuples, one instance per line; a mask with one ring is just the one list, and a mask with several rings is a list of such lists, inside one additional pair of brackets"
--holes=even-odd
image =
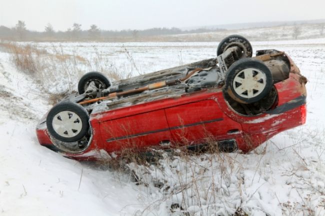
[(261, 117), (242, 119), (243, 140), (238, 148), (250, 151), (274, 135), (301, 126), (306, 121), (306, 88), (304, 77), (296, 68), (291, 68), (289, 78), (276, 83), (277, 106)]

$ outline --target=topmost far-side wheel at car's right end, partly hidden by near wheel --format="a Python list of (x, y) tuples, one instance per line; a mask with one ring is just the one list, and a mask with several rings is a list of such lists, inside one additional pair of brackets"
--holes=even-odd
[(245, 57), (251, 57), (252, 56), (252, 47), (249, 43), (249, 41), (240, 35), (230, 35), (221, 40), (221, 42), (218, 45), (218, 48), (216, 49), (216, 55), (221, 55), (227, 48), (237, 46), (239, 47), (239, 50), (237, 52), (237, 55), (239, 58), (245, 58)]

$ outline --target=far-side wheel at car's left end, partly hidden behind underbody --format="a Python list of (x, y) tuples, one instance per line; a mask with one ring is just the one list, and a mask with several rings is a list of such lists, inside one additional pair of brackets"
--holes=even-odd
[(96, 88), (106, 89), (110, 86), (110, 81), (102, 73), (93, 71), (84, 74), (78, 82), (78, 92), (83, 94), (88, 88), (91, 81), (94, 81)]

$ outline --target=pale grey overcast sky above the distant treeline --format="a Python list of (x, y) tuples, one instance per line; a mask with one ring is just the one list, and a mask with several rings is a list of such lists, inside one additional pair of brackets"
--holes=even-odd
[(187, 27), (325, 18), (325, 0), (0, 0), (0, 25), (43, 31)]

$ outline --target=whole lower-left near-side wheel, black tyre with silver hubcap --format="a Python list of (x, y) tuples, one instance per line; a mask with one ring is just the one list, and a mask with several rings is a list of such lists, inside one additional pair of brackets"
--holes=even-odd
[(47, 114), (50, 135), (62, 142), (75, 142), (88, 132), (89, 115), (79, 104), (65, 101), (56, 104)]

